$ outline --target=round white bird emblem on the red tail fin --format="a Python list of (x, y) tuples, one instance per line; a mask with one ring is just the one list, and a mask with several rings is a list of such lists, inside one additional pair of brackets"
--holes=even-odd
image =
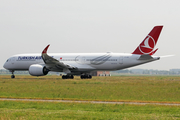
[(139, 50), (144, 54), (149, 54), (155, 47), (155, 41), (153, 37), (147, 36), (145, 40), (139, 45)]

